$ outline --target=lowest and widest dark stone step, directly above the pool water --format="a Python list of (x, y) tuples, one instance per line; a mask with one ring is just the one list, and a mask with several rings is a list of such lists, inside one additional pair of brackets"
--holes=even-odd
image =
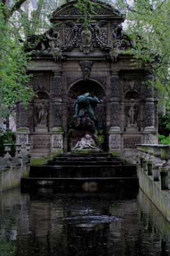
[(138, 188), (137, 177), (23, 178), (21, 188), (56, 187), (63, 191), (108, 191), (115, 187)]

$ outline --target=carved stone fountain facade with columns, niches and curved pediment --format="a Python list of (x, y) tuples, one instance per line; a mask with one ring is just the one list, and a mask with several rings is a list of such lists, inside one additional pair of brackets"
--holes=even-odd
[(132, 56), (123, 54), (133, 47), (122, 30), (124, 16), (98, 3), (96, 21), (85, 31), (74, 3), (53, 12), (52, 28), (41, 42), (29, 42), (35, 49), (30, 86), (37, 97), (27, 110), (17, 104), (17, 143), (31, 143), (33, 157), (70, 151), (74, 102), (86, 92), (103, 100), (96, 107), (103, 150), (125, 156), (136, 144), (157, 143), (157, 99), (147, 85), (153, 76), (148, 68), (132, 66)]

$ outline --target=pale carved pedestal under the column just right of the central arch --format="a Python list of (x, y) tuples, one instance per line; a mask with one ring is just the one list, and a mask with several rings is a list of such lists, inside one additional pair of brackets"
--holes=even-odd
[(120, 152), (121, 148), (121, 130), (120, 127), (110, 127), (109, 147), (110, 152)]

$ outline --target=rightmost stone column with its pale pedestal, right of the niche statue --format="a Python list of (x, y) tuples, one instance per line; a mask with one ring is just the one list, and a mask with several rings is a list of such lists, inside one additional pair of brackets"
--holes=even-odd
[(152, 74), (147, 74), (145, 80), (144, 141), (145, 144), (155, 144), (157, 143), (157, 127), (155, 127), (155, 113), (157, 111), (155, 111), (154, 88), (149, 83), (153, 80)]

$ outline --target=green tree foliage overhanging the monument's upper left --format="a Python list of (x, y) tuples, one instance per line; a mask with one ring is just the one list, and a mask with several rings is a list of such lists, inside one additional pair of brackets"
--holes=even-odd
[[(0, 0), (0, 95), (3, 115), (9, 114), (17, 100), (26, 106), (33, 95), (28, 86), (31, 75), (27, 74), (31, 52), (24, 51), (25, 41), (29, 36), (41, 32), (41, 11), (45, 4), (49, 4), (46, 15), (52, 10), (50, 1), (37, 0), (36, 9), (29, 17), (29, 12), (22, 8), (25, 1), (16, 0), (11, 5), (10, 1)], [(43, 22), (43, 28), (47, 26)]]

